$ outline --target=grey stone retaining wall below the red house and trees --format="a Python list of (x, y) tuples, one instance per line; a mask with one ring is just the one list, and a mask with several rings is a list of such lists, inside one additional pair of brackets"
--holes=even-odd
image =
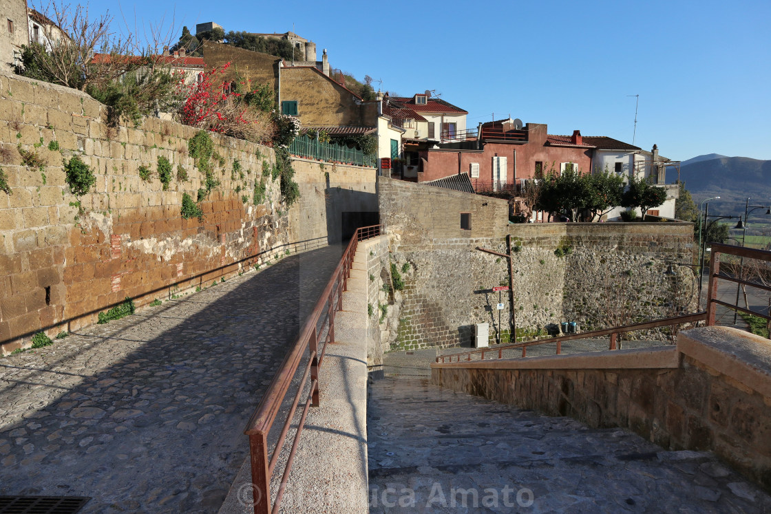
[[(509, 297), (492, 291), (508, 284), (507, 259), (476, 250), (505, 254), (507, 234), (520, 337), (569, 321), (587, 331), (695, 310), (688, 268), (675, 266), (675, 281), (664, 275), (668, 262), (692, 261), (690, 223), (514, 224), (503, 200), (386, 178), (379, 187), (392, 260), (414, 270), (392, 348), (469, 345), (483, 322), (492, 340), (508, 341)], [(461, 213), (470, 213), (470, 230), (460, 227)]]

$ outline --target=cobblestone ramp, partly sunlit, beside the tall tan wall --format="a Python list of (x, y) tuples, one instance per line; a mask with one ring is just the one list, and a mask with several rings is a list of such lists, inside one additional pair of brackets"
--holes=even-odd
[(217, 512), (244, 425), (342, 249), (285, 257), (0, 359), (0, 495)]

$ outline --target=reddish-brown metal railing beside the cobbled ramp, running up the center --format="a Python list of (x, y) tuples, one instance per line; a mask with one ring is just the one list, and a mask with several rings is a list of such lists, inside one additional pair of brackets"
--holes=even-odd
[[(291, 472), (292, 463), (295, 460), (295, 452), (302, 429), (305, 425), (305, 417), (308, 415), (308, 408), (318, 407), (321, 400), (321, 391), (318, 387), (319, 368), (324, 362), (324, 354), (327, 345), (335, 341), (335, 313), (342, 308), (342, 293), (346, 291), (348, 277), (351, 276), (351, 266), (353, 257), (356, 253), (356, 247), (359, 241), (379, 236), (382, 231), (382, 225), (372, 225), (370, 227), (361, 227), (356, 230), (348, 247), (340, 258), (340, 262), (332, 277), (324, 288), (321, 296), (316, 301), (311, 314), (305, 319), (305, 324), (300, 328), (297, 339), (291, 346), (291, 350), (281, 362), (271, 385), (265, 391), (260, 404), (249, 419), (244, 434), (249, 436), (249, 453), (251, 456), (251, 487), (254, 500), (255, 514), (268, 514), (268, 512), (278, 512), (281, 506), (281, 499), (284, 496), (284, 489)], [(319, 321), (322, 322), (319, 328)], [(322, 347), (319, 348), (319, 336), (326, 332), (326, 338), (322, 341)], [(292, 379), (301, 365), (305, 365), (305, 371), (300, 379), (297, 394), (292, 401), (291, 408), (288, 410), (286, 421), (281, 428), (281, 434), (278, 436), (278, 442), (273, 449), (272, 455), (268, 448), (268, 434), (271, 432), (274, 421), (281, 405), (287, 395)], [(284, 448), (284, 441), (289, 432), (291, 422), (295, 416), (295, 410), (305, 390), (305, 384), (311, 378), (310, 391), (305, 400), (305, 407), (302, 409), (300, 421), (295, 432), (295, 439), (292, 442), (291, 450), (287, 457), (284, 473), (281, 475), (281, 485), (276, 492), (276, 499), (271, 509), (271, 478), (275, 471), (276, 462), (281, 455), (281, 449)]]

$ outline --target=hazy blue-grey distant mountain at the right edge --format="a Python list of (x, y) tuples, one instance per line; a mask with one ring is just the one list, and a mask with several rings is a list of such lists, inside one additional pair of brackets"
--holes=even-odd
[[(677, 179), (673, 170), (667, 175), (672, 182)], [(697, 204), (710, 197), (720, 197), (709, 202), (711, 213), (743, 214), (747, 197), (752, 197), (751, 205), (771, 203), (771, 160), (715, 153), (698, 156), (682, 162), (680, 180), (685, 182)]]

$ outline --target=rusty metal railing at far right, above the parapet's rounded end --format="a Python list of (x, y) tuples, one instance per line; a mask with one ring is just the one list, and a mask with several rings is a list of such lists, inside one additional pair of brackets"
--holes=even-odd
[(763, 270), (760, 270), (759, 274), (762, 274), (762, 277), (759, 277), (760, 280), (765, 282), (765, 284), (761, 284), (757, 281), (751, 281), (747, 280), (748, 278), (752, 278), (744, 274), (743, 267), (739, 268), (739, 276), (738, 277), (732, 277), (731, 275), (727, 274), (721, 274), (720, 273), (720, 255), (721, 254), (728, 254), (728, 255), (735, 255), (736, 257), (743, 257), (744, 259), (754, 259), (754, 260), (763, 260), (766, 262), (771, 262), (771, 251), (768, 250), (756, 250), (754, 248), (746, 248), (746, 247), (735, 247), (729, 244), (712, 244), (712, 255), (709, 259), (709, 282), (708, 282), (708, 289), (707, 289), (707, 324), (713, 325), (715, 324), (715, 312), (717, 311), (717, 306), (722, 305), (723, 307), (728, 307), (729, 309), (732, 309), (733, 311), (739, 311), (743, 312), (745, 314), (751, 314), (752, 316), (757, 317), (763, 317), (766, 321), (771, 321), (771, 309), (769, 309), (769, 312), (767, 314), (763, 314), (762, 312), (758, 311), (751, 311), (749, 308), (745, 307), (739, 307), (737, 304), (730, 304), (725, 301), (718, 300), (717, 294), (718, 294), (718, 281), (729, 281), (734, 282), (736, 284), (739, 284), (740, 286), (749, 286), (749, 287), (756, 287), (757, 289), (763, 290), (763, 291), (771, 291), (771, 269), (766, 267)]

